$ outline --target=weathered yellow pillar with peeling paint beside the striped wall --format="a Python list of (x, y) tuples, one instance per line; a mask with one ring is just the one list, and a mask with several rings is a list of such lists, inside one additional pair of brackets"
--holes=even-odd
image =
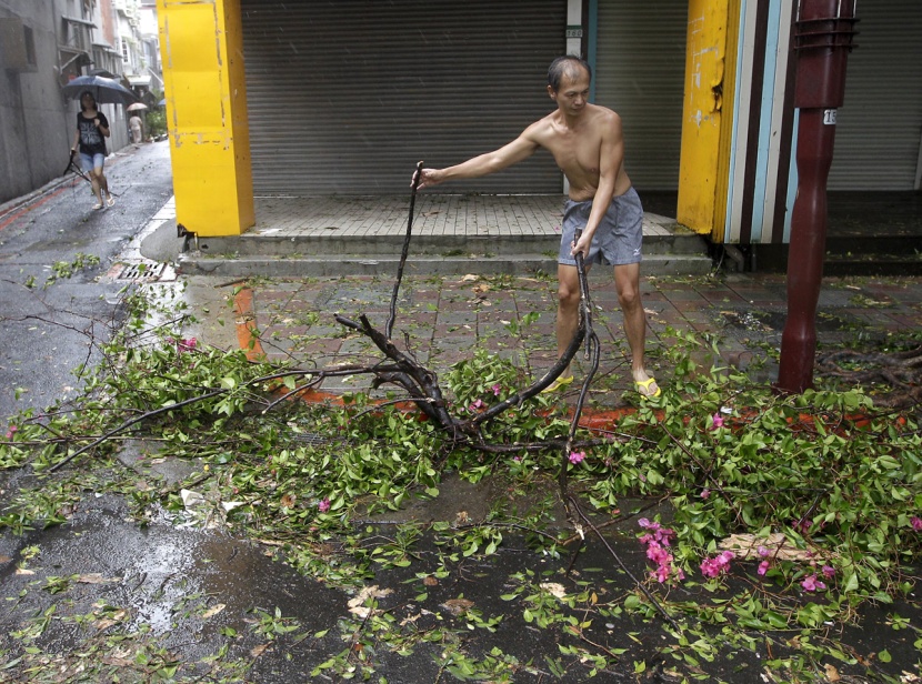
[(677, 219), (715, 242), (730, 182), (739, 12), (738, 0), (689, 0)]

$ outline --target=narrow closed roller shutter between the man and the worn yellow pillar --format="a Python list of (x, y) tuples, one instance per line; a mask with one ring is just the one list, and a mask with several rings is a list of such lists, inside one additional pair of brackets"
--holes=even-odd
[(599, 0), (595, 102), (624, 127), (638, 190), (679, 188), (688, 0)]

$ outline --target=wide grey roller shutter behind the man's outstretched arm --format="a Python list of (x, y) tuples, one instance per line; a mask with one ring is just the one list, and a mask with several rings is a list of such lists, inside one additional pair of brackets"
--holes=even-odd
[[(552, 111), (565, 0), (242, 0), (258, 194), (407, 192)], [(447, 192), (558, 193), (547, 152)]]

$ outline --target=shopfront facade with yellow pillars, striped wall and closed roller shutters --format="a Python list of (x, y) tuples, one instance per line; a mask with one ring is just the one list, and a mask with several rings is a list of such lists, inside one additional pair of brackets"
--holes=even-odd
[[(547, 64), (579, 51), (594, 101), (622, 117), (641, 194), (677, 192), (678, 219), (715, 241), (783, 242), (796, 188), (795, 7), (158, 0), (180, 221), (238, 234), (252, 225), (254, 193), (403, 192), (415, 161), (455, 163), (550, 111)], [(829, 187), (918, 189), (922, 4), (859, 10)], [(563, 189), (538, 154), (450, 191)]]

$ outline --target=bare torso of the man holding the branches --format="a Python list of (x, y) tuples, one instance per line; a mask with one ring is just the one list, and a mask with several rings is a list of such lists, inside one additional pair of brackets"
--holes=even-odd
[[(611, 127), (618, 127), (620, 139), (621, 121), (618, 114), (604, 107), (587, 104), (574, 122), (568, 122), (560, 110), (551, 112), (529, 127), (527, 137), (553, 154), (557, 165), (570, 182), (570, 199), (581, 202), (594, 198), (599, 189), (602, 134)], [(630, 188), (631, 179), (621, 162), (618, 164), (614, 195), (624, 194)]]

